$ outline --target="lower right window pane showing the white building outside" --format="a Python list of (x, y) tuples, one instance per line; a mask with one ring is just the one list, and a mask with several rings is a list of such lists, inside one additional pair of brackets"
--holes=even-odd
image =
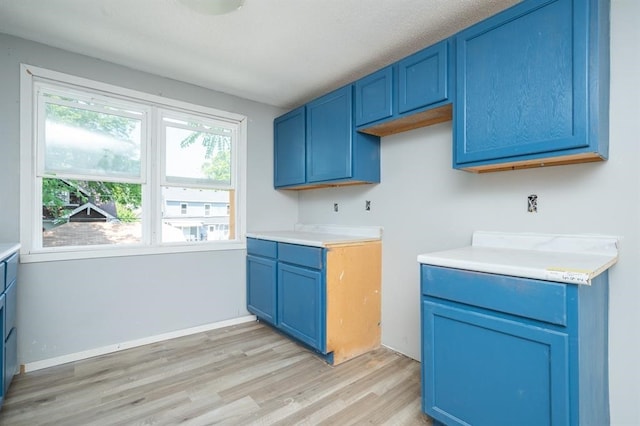
[[(162, 242), (234, 239), (232, 200), (233, 191), (163, 187)], [(182, 213), (185, 204), (189, 208)]]

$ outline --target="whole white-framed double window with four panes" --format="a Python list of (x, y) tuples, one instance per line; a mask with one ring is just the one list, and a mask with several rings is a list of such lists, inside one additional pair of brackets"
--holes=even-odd
[(26, 261), (243, 248), (245, 117), (22, 71)]

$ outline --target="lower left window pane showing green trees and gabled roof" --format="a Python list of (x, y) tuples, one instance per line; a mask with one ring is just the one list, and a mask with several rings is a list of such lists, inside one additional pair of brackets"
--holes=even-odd
[(42, 246), (139, 244), (141, 185), (42, 179)]

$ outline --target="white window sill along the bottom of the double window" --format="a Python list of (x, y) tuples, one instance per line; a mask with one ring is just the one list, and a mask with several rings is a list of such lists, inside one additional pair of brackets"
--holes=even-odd
[[(20, 263), (56, 262), (65, 260), (101, 259), (106, 257), (152, 256), (158, 254), (191, 253), (204, 251), (245, 250), (246, 241), (224, 241), (203, 244), (167, 244), (156, 247), (72, 247), (56, 251), (21, 252)], [(23, 248), (24, 249), (24, 248)]]

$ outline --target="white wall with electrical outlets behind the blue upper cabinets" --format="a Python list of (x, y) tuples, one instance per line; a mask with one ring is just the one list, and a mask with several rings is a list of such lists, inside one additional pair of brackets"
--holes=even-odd
[[(300, 194), (302, 223), (382, 225), (382, 339), (419, 358), (416, 256), (474, 230), (620, 236), (610, 271), (612, 424), (640, 424), (640, 2), (613, 0), (610, 159), (475, 175), (451, 168), (451, 123), (382, 139), (382, 183)], [(527, 213), (537, 194), (539, 212)], [(371, 200), (372, 210), (364, 210)], [(333, 212), (333, 203), (339, 212)]]

